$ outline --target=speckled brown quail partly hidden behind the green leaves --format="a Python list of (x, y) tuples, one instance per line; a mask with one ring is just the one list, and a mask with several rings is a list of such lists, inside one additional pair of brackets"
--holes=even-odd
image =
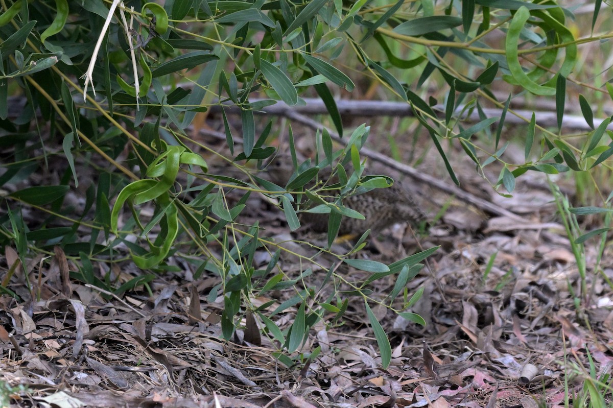
[[(278, 156), (268, 166), (267, 171), (271, 181), (283, 187), (287, 185), (292, 174), (294, 174), (294, 166), (289, 156)], [(321, 187), (320, 184), (325, 181), (329, 181), (326, 186), (338, 183), (338, 176), (332, 176), (332, 179), (330, 179), (330, 175), (332, 175), (330, 167), (322, 168), (318, 173), (319, 184), (311, 182), (305, 188), (313, 191), (313, 187)], [(333, 196), (338, 197), (338, 189), (331, 189), (326, 192), (320, 191), (320, 194), (329, 194), (332, 197), (326, 197), (326, 201), (332, 202), (335, 198)], [(424, 212), (413, 199), (411, 191), (398, 183), (362, 194), (348, 195), (343, 197), (343, 205), (351, 208), (351, 210), (358, 211), (365, 219), (343, 217), (339, 235), (358, 237), (368, 229), (372, 231), (373, 235), (376, 235), (381, 230), (399, 222), (417, 225), (426, 219)], [(307, 206), (307, 208), (312, 206), (314, 205)], [(314, 232), (326, 232), (328, 229), (328, 214), (301, 212), (299, 216), (301, 223)]]

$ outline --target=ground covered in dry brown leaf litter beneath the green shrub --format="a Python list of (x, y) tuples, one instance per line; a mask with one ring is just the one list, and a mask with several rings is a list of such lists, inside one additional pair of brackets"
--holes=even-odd
[[(299, 148), (308, 155), (314, 132), (303, 129), (302, 133), (306, 137), (297, 135)], [(373, 126), (371, 133), (369, 147), (386, 144), (381, 143), (387, 137), (382, 129)], [(223, 150), (223, 140), (202, 138)], [(397, 143), (408, 146), (411, 138), (400, 136)], [(427, 145), (427, 135), (419, 145)], [(403, 161), (417, 162), (419, 172), (451, 185), (435, 149), (416, 149), (403, 148)], [(524, 154), (523, 148), (517, 152)], [(448, 153), (462, 189), (507, 215), (493, 214), (370, 162), (375, 172), (390, 174), (414, 189), (416, 199), (436, 221), (428, 231), (406, 225), (387, 229), (359, 256), (391, 263), (440, 246), (406, 288), (408, 297), (424, 290), (408, 311), (421, 315), (425, 327), (370, 303), (392, 346), (387, 369), (381, 366), (361, 297), (349, 298), (338, 324), (326, 328), (318, 323), (311, 330), (300, 351), (320, 347), (316, 358), (297, 358), (302, 363), (287, 366), (278, 358), (283, 354), (280, 344), (272, 338), (239, 330), (233, 341), (222, 340), (219, 316), (224, 299), (215, 292), (211, 295), (221, 279), (208, 271), (194, 278), (196, 271), (181, 251), (170, 257), (166, 272), (151, 278), (151, 293), (138, 285), (116, 297), (75, 279), (83, 259), (66, 257), (56, 247), (51, 255), (32, 255), (27, 274), (22, 268), (10, 278), (6, 287), (25, 301), (8, 294), (0, 297), (0, 380), (6, 383), (11, 406), (562, 407), (565, 395), (570, 395), (572, 404), (573, 396), (585, 395), (590, 384), (596, 387), (595, 379), (613, 364), (611, 248), (604, 247), (595, 271), (600, 241), (587, 241), (587, 276), (582, 279), (542, 173), (525, 174), (517, 180), (513, 197), (504, 198), (476, 174), (462, 151)], [(508, 154), (514, 154), (512, 147)], [(492, 174), (487, 176), (495, 180), (495, 165), (489, 171)], [(29, 181), (30, 185), (53, 183), (50, 173)], [(568, 178), (551, 181), (571, 203), (576, 199)], [(248, 205), (253, 210), (241, 222), (259, 220), (267, 236), (277, 240), (316, 242), (310, 236), (292, 235), (283, 213), (263, 195), (254, 194)], [(437, 219), (443, 207), (446, 210)], [(26, 220), (35, 222), (44, 216), (31, 211), (24, 214)], [(598, 220), (580, 217), (579, 222), (586, 229), (598, 226)], [(83, 236), (83, 241), (89, 237)], [(310, 254), (311, 248), (291, 244)], [(87, 261), (98, 278), (111, 276), (121, 284), (142, 274), (128, 252), (123, 255), (121, 262)], [(3, 280), (15, 257), (15, 250), (7, 247), (6, 262), (0, 263)], [(258, 262), (265, 268), (268, 260), (262, 251)], [(324, 256), (321, 262), (326, 262)], [(297, 279), (306, 269), (289, 256), (281, 257), (280, 267), (286, 279)], [(312, 272), (298, 285), (319, 287), (326, 271), (313, 267)], [(337, 273), (355, 282), (369, 275), (351, 268)], [(370, 297), (383, 301), (394, 279), (392, 275), (377, 281)], [(253, 299), (253, 306), (274, 301), (266, 309), (272, 311), (294, 295), (292, 289), (280, 290), (276, 298)], [(286, 330), (296, 311), (288, 308), (268, 315)], [(254, 323), (264, 327), (249, 319), (253, 316), (246, 315), (242, 327)], [(261, 344), (245, 338), (259, 338)]]

